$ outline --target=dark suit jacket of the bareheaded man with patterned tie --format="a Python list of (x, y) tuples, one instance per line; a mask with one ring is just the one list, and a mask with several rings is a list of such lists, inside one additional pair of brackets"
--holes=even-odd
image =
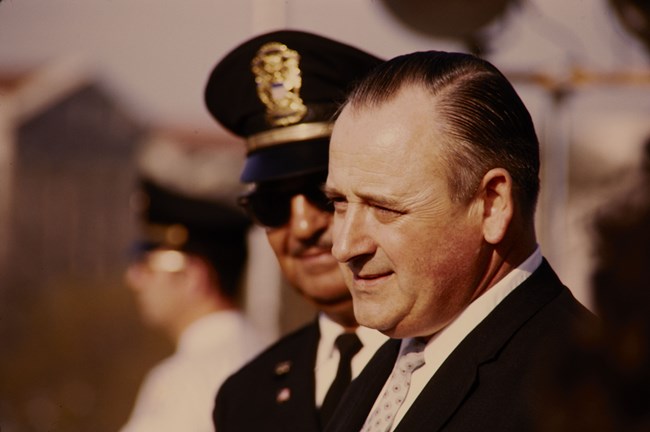
[[(451, 353), (396, 432), (533, 430), (546, 348), (562, 343), (578, 321), (592, 319), (544, 260)], [(361, 429), (398, 351), (398, 340), (377, 351), (348, 388), (328, 432)]]

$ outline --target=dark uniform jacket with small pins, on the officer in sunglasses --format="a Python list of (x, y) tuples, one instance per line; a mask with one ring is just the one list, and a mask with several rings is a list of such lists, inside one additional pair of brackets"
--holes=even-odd
[(320, 333), (313, 323), (285, 336), (219, 389), (218, 432), (320, 431), (314, 366)]

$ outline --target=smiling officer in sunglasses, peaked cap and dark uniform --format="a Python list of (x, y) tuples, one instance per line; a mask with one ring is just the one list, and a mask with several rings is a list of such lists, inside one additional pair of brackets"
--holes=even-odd
[(349, 85), (379, 63), (327, 38), (278, 31), (244, 42), (210, 76), (208, 109), (246, 139), (241, 180), (252, 188), (241, 204), (266, 228), (289, 283), (319, 311), (224, 383), (214, 409), (219, 432), (321, 430), (386, 340), (357, 326), (321, 190), (333, 116)]

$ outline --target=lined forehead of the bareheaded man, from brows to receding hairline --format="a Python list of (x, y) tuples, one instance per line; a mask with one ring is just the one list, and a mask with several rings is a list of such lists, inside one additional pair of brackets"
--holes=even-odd
[(444, 165), (443, 124), (431, 94), (415, 87), (378, 105), (347, 106), (332, 133), (328, 185), (436, 174)]

